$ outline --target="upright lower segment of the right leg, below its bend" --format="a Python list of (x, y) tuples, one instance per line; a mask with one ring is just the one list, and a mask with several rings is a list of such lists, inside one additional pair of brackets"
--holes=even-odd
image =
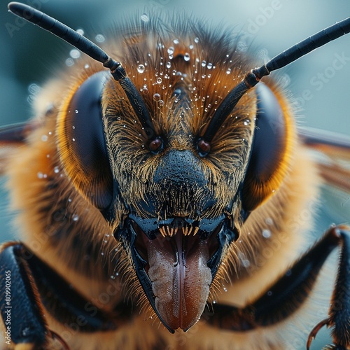
[(350, 349), (350, 230), (339, 228), (336, 234), (339, 239), (340, 258), (328, 318), (319, 322), (311, 330), (307, 349), (323, 325), (332, 328), (334, 344), (328, 346), (328, 349)]

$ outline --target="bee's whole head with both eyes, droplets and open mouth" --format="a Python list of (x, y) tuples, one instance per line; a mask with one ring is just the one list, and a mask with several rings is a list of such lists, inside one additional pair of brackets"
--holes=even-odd
[[(188, 44), (179, 43), (170, 58), (173, 40), (125, 49), (120, 79), (98, 71), (76, 84), (57, 134), (64, 169), (115, 227), (156, 313), (170, 330), (187, 330), (200, 318), (239, 226), (278, 188), (276, 176), (283, 178), (287, 128), (266, 85), (220, 109), (236, 85), (227, 71), (243, 59), (234, 49), (219, 60), (230, 52), (232, 62), (213, 70), (202, 66), (210, 55), (196, 59), (209, 43), (193, 42), (185, 57), (184, 38)], [(225, 82), (215, 90), (211, 72)], [(223, 114), (222, 125), (209, 123)]]

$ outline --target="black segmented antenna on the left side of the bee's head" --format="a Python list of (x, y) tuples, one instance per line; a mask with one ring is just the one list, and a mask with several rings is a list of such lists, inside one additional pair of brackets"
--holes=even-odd
[(106, 68), (109, 68), (113, 78), (123, 87), (127, 98), (132, 104), (132, 108), (140, 120), (146, 137), (148, 140), (155, 138), (155, 129), (148, 109), (144, 104), (144, 100), (137, 90), (137, 87), (132, 83), (132, 80), (127, 77), (127, 73), (120, 62), (109, 57), (102, 48), (92, 43), (92, 41), (85, 38), (85, 36), (31, 6), (25, 5), (24, 3), (10, 2), (8, 3), (8, 10), (18, 15), (20, 18), (50, 31), (50, 33), (62, 38), (92, 59), (101, 62)]

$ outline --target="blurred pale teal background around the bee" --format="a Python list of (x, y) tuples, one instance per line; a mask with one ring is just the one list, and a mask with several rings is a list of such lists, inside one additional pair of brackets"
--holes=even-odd
[[(31, 117), (28, 100), (35, 88), (55, 76), (57, 66), (64, 66), (71, 47), (52, 34), (24, 23), (7, 11), (7, 1), (0, 0), (0, 126)], [(160, 11), (186, 10), (215, 25), (227, 23), (245, 32), (256, 46), (258, 55), (273, 57), (282, 50), (350, 15), (349, 0), (32, 0), (49, 15), (73, 29), (82, 28), (94, 39), (113, 22), (125, 15)], [(344, 57), (335, 71), (332, 63)], [(300, 125), (350, 135), (350, 34), (311, 52), (290, 66), (275, 72), (283, 77), (288, 89), (302, 105)], [(3, 179), (0, 179), (3, 185)], [(315, 232), (322, 232), (332, 222), (350, 218), (349, 195), (327, 189)], [(0, 186), (0, 241), (13, 236), (6, 210), (6, 190)], [(316, 344), (316, 343), (315, 343)], [(318, 349), (314, 345), (314, 349)], [(297, 348), (295, 348), (297, 349)]]

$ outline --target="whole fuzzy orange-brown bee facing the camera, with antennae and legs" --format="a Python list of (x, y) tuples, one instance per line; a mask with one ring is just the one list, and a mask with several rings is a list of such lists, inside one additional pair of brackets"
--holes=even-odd
[(348, 33), (350, 19), (252, 69), (236, 36), (193, 18), (137, 18), (107, 55), (39, 10), (9, 9), (86, 57), (48, 83), (33, 120), (0, 130), (24, 233), (1, 246), (3, 344), (290, 349), (304, 331), (309, 349), (327, 325), (328, 348), (349, 349), (349, 227), (305, 248), (302, 214), (323, 179), (350, 192), (335, 159), (349, 160), (350, 141), (297, 130), (269, 74)]

